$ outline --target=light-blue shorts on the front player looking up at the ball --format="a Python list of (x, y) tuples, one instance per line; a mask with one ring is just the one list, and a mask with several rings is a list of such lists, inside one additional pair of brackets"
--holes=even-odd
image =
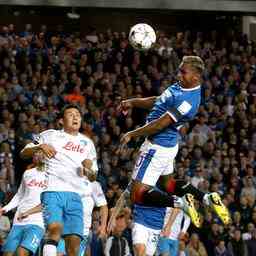
[(74, 192), (46, 191), (41, 194), (45, 225), (57, 222), (63, 225), (63, 235), (83, 238), (83, 204)]

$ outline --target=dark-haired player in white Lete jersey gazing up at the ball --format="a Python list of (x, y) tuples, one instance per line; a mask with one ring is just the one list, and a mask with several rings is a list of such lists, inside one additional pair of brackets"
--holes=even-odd
[(84, 178), (79, 171), (84, 168), (86, 175), (93, 180), (98, 169), (93, 142), (79, 133), (82, 119), (79, 108), (68, 105), (61, 114), (63, 130), (42, 132), (21, 152), (23, 158), (29, 158), (42, 150), (47, 157), (48, 187), (41, 195), (43, 217), (49, 234), (43, 248), (44, 256), (56, 256), (61, 235), (65, 238), (67, 254), (77, 256), (80, 240), (83, 239), (80, 194), (84, 189)]

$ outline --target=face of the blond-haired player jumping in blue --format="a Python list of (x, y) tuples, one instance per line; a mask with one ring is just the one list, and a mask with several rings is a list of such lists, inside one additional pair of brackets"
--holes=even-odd
[(190, 88), (197, 85), (200, 81), (200, 76), (197, 72), (195, 72), (189, 64), (181, 63), (177, 75), (178, 80), (181, 84), (186, 87)]

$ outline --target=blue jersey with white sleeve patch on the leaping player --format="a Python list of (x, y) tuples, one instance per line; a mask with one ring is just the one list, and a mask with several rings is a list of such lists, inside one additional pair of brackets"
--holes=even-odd
[(201, 101), (201, 86), (186, 89), (180, 83), (169, 86), (156, 100), (147, 122), (168, 113), (175, 123), (149, 137), (149, 140), (163, 147), (174, 147), (178, 143), (179, 129), (196, 115)]

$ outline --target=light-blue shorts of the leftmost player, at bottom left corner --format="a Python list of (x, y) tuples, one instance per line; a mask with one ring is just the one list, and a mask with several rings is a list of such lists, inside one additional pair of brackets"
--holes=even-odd
[(14, 225), (3, 246), (4, 252), (15, 252), (23, 247), (35, 254), (44, 236), (44, 229), (37, 225)]

